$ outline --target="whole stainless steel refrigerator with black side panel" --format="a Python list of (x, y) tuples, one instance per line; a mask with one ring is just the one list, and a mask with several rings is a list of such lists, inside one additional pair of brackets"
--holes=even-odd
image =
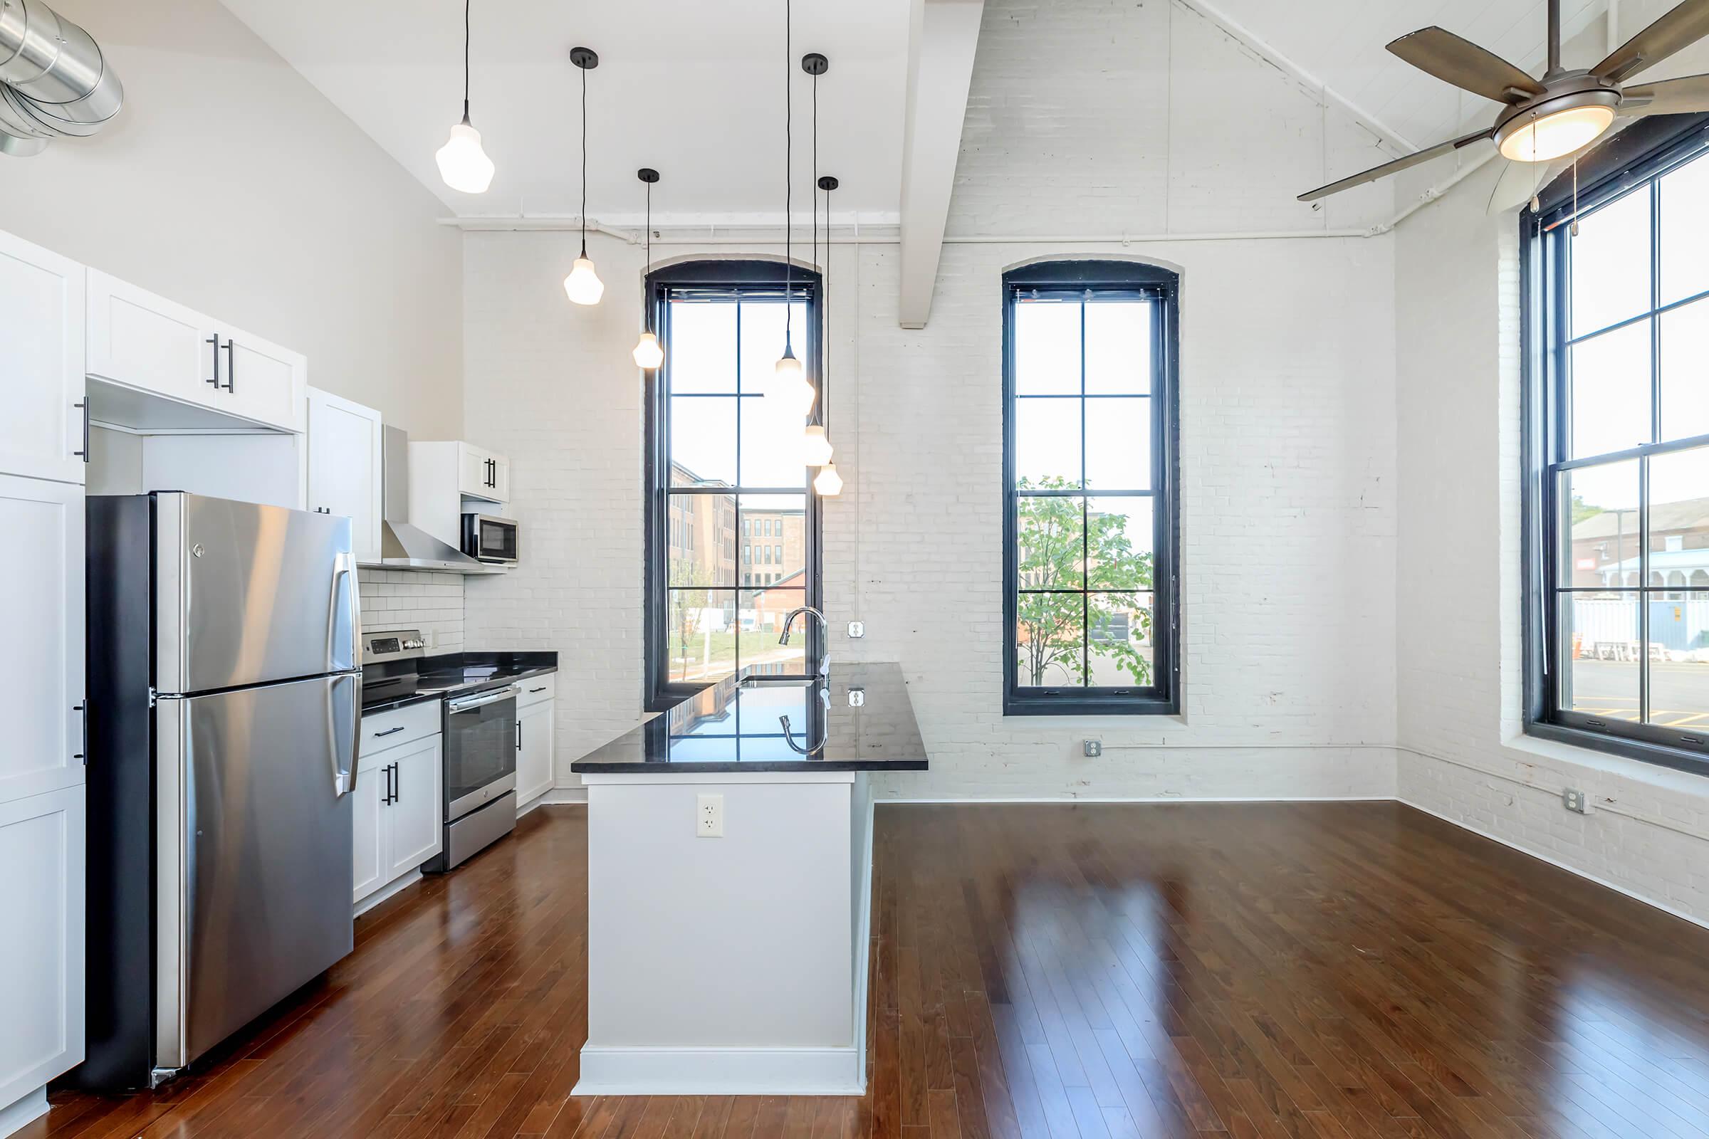
[(350, 521), (91, 497), (87, 1060), (183, 1071), (352, 946)]

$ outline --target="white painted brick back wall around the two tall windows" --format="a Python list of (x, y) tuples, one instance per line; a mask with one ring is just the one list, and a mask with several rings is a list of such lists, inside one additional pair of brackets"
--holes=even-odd
[[(1174, 91), (1184, 108), (1179, 92), (1217, 85), (1263, 106), (1280, 135), (1254, 149), (1208, 111), (1157, 128), (1131, 94), (1136, 65), (1116, 67), (1135, 43), (1169, 48), (1169, 82), (1145, 97)], [(1324, 181), (1326, 123), (1333, 138), (1362, 131), (1181, 5), (988, 3), (979, 51), (950, 219), (962, 239), (1321, 229), (1292, 198)], [(1333, 161), (1330, 176), (1381, 155)], [(1383, 188), (1357, 208), (1386, 205)], [(562, 654), (574, 704), (561, 756), (641, 719), (643, 384), (629, 348), (643, 260), (595, 236), (605, 301), (579, 309), (559, 285), (576, 242), (465, 244), (465, 420), (511, 456), (528, 546), (518, 570), (467, 584), (467, 635)], [(1393, 794), (1391, 239), (950, 244), (919, 331), (897, 326), (894, 244), (836, 249), (832, 437), (848, 487), (825, 511), (831, 651), (902, 663), (933, 763), (875, 780), (880, 796)], [(750, 253), (776, 249), (714, 251)], [(1001, 716), (1000, 277), (1041, 256), (1183, 273), (1181, 717)], [(854, 616), (865, 640), (844, 635)], [(1082, 760), (1092, 734), (1106, 755)]]

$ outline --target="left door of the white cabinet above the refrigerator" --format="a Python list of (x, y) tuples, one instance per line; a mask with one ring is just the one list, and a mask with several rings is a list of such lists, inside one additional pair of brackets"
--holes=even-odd
[(85, 362), (91, 376), (186, 403), (214, 403), (217, 338), (193, 309), (89, 270)]

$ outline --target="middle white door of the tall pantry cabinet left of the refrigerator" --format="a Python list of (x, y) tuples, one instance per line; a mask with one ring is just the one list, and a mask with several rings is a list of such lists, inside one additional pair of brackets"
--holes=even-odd
[(84, 488), (0, 475), (0, 533), (24, 543), (0, 558), (5, 803), (84, 782)]

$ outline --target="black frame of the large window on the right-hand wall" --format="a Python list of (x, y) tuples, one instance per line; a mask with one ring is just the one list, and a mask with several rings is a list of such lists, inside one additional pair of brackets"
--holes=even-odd
[[(1651, 456), (1702, 446), (1709, 435), (1649, 442), (1627, 451), (1572, 459), (1567, 456), (1567, 415), (1571, 383), (1565, 367), (1567, 347), (1574, 340), (1569, 328), (1571, 222), (1586, 217), (1630, 193), (1659, 196), (1663, 174), (1694, 159), (1709, 162), (1709, 114), (1656, 116), (1642, 120), (1615, 135), (1579, 161), (1577, 190), (1572, 171), (1538, 195), (1538, 208), (1519, 213), (1519, 302), (1521, 302), (1521, 463), (1523, 514), (1521, 538), (1523, 622), (1524, 622), (1524, 731), (1530, 736), (1567, 743), (1608, 755), (1620, 755), (1683, 772), (1709, 775), (1709, 727), (1694, 731), (1615, 717), (1591, 716), (1560, 707), (1560, 505), (1555, 475), (1562, 470), (1600, 466), (1612, 461), (1647, 459)], [(1697, 294), (1678, 302), (1659, 304), (1661, 210), (1651, 198), (1651, 297), (1639, 319), (1654, 319), (1651, 335), (1651, 415), (1659, 413), (1659, 314), (1704, 301)], [(1618, 328), (1615, 324), (1613, 328)], [(1598, 330), (1606, 331), (1606, 330)], [(1659, 435), (1653, 430), (1653, 437)], [(1641, 565), (1639, 644), (1649, 640), (1649, 533), (1647, 533), (1647, 463), (1639, 488), (1639, 516), (1644, 519), (1637, 538)], [(1567, 586), (1571, 589), (1571, 586)], [(1663, 586), (1659, 593), (1673, 593)], [(1647, 668), (1641, 669), (1647, 676)], [(1647, 683), (1641, 681), (1639, 714), (1647, 716)]]

